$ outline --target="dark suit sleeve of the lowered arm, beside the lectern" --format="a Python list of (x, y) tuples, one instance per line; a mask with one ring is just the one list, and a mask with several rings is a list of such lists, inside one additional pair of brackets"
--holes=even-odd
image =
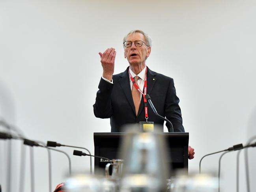
[[(185, 132), (182, 125), (181, 109), (179, 107), (179, 98), (176, 95), (174, 81), (171, 78), (165, 100), (165, 116), (172, 122), (174, 132)], [(166, 127), (170, 132), (171, 126), (166, 123)]]

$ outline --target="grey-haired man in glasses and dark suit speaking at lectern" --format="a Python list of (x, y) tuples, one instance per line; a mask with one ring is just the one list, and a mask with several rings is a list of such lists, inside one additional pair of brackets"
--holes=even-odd
[[(146, 59), (151, 52), (149, 36), (141, 30), (133, 30), (124, 37), (123, 47), (129, 67), (117, 75), (113, 75), (115, 49), (99, 52), (103, 75), (93, 105), (95, 116), (110, 118), (111, 132), (120, 132), (123, 125), (146, 119), (163, 126), (164, 121), (155, 116), (152, 110), (147, 110), (144, 95), (149, 94), (157, 112), (172, 122), (174, 132), (184, 132), (173, 79), (151, 71), (146, 66)], [(168, 123), (166, 127), (170, 132)], [(194, 149), (191, 147), (189, 158), (194, 158)]]

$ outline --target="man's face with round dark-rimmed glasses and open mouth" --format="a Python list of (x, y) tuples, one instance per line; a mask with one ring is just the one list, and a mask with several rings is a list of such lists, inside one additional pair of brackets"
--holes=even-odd
[[(127, 36), (125, 41), (145, 41), (144, 35), (141, 33), (130, 34)], [(147, 47), (145, 43), (142, 43), (141, 47), (136, 47), (134, 42), (131, 47), (125, 47), (124, 57), (127, 58), (131, 65), (145, 64), (146, 57), (149, 56), (151, 48)]]

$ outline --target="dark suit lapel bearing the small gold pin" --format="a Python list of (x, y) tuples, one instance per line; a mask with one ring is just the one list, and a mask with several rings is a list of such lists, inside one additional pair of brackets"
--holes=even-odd
[[(151, 71), (149, 68), (148, 68), (148, 72), (147, 72), (147, 94), (150, 94), (151, 93), (151, 90), (153, 88), (153, 86), (155, 85), (155, 82), (157, 80), (157, 78), (155, 77), (156, 73)], [(138, 116), (140, 115), (140, 113), (144, 111), (144, 99), (143, 99), (143, 95), (142, 95), (142, 98), (141, 98), (141, 101), (140, 101), (140, 107), (139, 107), (139, 110), (138, 110)], [(137, 116), (137, 117), (138, 117)]]

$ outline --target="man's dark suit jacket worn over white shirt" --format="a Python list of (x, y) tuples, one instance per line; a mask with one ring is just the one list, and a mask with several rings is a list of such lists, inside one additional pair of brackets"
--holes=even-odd
[[(111, 132), (120, 132), (122, 125), (146, 120), (144, 101), (142, 98), (138, 116), (136, 116), (128, 68), (123, 73), (113, 75), (112, 79), (114, 84), (110, 84), (101, 78), (93, 110), (96, 117), (110, 118)], [(184, 132), (179, 98), (176, 96), (173, 79), (148, 69), (147, 86), (148, 94), (158, 114), (172, 122), (174, 132)], [(161, 124), (163, 127), (164, 121), (155, 116), (149, 105), (148, 117), (148, 121)], [(168, 123), (166, 127), (170, 132)]]

